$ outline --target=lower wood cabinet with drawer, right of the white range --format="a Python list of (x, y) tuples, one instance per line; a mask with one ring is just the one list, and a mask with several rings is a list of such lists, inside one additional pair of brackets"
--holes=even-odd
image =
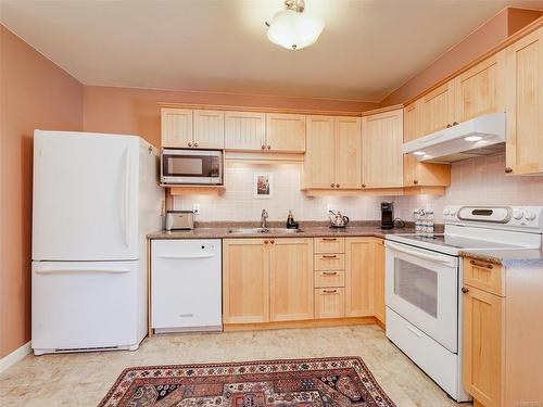
[(543, 266), (464, 259), (464, 389), (475, 406), (543, 405)]

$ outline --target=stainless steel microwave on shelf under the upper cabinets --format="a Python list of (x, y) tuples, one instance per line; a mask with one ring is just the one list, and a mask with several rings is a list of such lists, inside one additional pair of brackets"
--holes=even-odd
[(161, 182), (223, 185), (223, 151), (162, 149)]

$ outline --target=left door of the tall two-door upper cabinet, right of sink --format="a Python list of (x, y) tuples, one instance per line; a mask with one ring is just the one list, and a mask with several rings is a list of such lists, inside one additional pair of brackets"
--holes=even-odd
[(334, 187), (334, 127), (332, 116), (307, 116), (307, 151), (304, 160), (304, 187)]

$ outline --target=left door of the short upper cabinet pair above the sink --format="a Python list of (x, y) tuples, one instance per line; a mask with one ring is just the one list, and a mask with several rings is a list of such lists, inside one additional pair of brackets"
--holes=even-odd
[(266, 114), (225, 112), (225, 149), (250, 151), (266, 149)]

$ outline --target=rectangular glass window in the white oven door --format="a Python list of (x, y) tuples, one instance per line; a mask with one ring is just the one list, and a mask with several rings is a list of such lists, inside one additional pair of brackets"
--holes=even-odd
[(438, 274), (400, 258), (394, 262), (394, 294), (437, 318)]

